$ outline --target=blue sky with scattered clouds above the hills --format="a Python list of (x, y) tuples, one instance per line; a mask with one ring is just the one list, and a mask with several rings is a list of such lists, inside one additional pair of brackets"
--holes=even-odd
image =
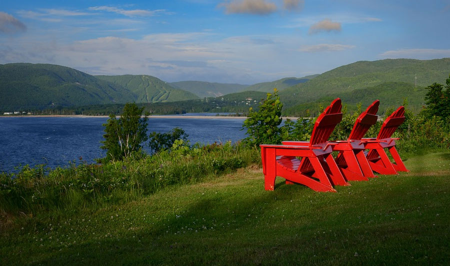
[(3, 1), (0, 63), (252, 84), (450, 57), (450, 0)]

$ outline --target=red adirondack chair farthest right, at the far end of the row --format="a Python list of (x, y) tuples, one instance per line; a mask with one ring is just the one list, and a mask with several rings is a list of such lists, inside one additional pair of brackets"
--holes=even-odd
[[(362, 138), (364, 147), (369, 149), (366, 158), (372, 170), (381, 174), (397, 174), (397, 171), (409, 171), (404, 166), (395, 148), (395, 140), (398, 138), (391, 137), (404, 119), (404, 107), (400, 106), (384, 120), (376, 138)], [(392, 155), (394, 162), (391, 162), (387, 156), (386, 148)]]

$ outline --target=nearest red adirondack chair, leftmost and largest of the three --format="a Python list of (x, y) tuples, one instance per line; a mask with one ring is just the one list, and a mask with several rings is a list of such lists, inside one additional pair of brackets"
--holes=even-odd
[(300, 183), (315, 191), (336, 191), (333, 185), (348, 184), (331, 155), (332, 144), (326, 142), (342, 119), (341, 108), (339, 98), (325, 108), (315, 121), (309, 142), (260, 145), (266, 190), (274, 189), (276, 176), (284, 177), (287, 184)]

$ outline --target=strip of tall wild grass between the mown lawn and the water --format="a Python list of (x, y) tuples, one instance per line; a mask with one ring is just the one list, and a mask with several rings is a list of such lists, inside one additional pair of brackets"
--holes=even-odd
[(206, 145), (134, 153), (124, 161), (44, 165), (0, 174), (0, 212), (38, 213), (76, 210), (88, 205), (127, 202), (169, 185), (190, 184), (259, 163), (259, 151), (239, 144)]

